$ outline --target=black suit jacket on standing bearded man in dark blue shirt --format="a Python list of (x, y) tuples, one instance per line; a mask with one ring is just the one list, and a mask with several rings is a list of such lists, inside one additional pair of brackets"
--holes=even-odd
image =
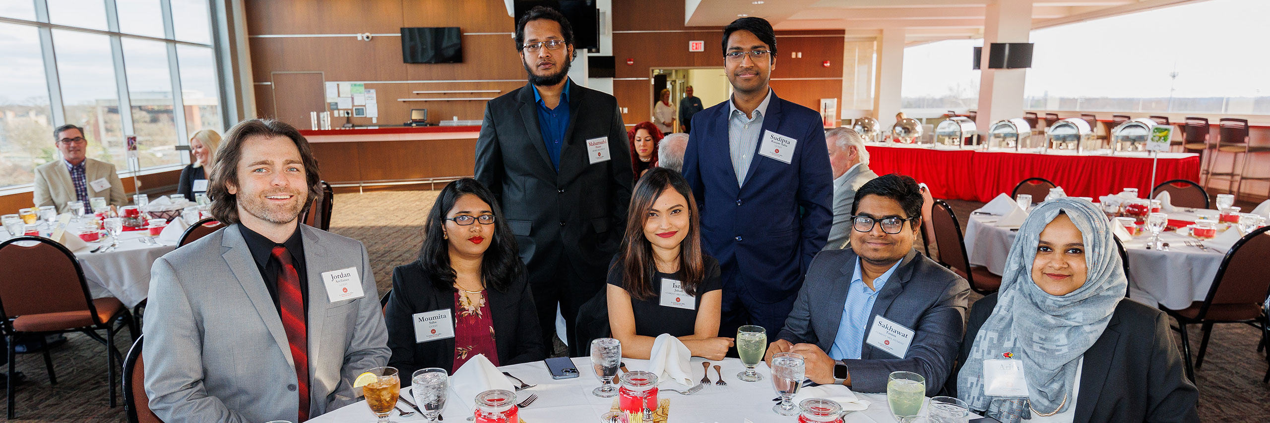
[[(502, 205), (528, 280), (550, 280), (558, 266), (572, 265), (599, 286), (626, 229), (631, 199), (630, 142), (617, 100), (577, 84), (569, 87), (572, 118), (559, 172), (547, 157), (536, 108), (532, 84), (485, 105), (476, 180)], [(591, 165), (587, 139), (599, 137), (608, 138), (610, 160)]]

